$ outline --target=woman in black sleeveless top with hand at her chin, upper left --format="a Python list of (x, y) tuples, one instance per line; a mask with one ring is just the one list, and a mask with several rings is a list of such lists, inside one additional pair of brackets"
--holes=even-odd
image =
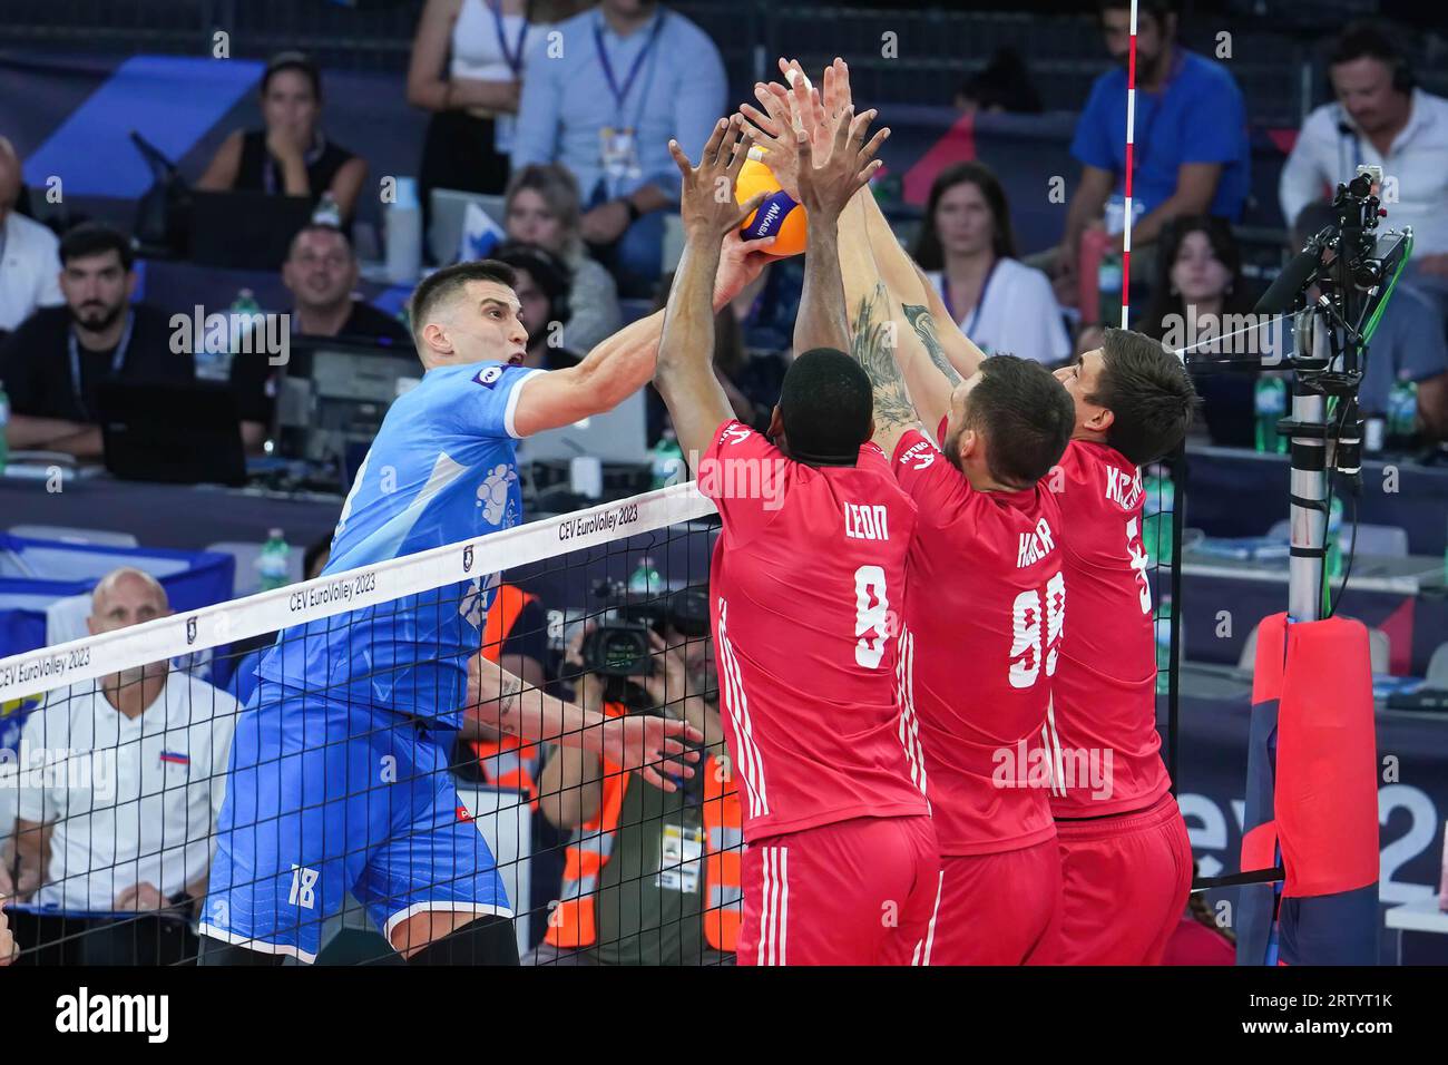
[(235, 130), (206, 168), (197, 188), (304, 196), (330, 193), (350, 222), (366, 183), (366, 161), (321, 132), (321, 71), (301, 52), (282, 52), (262, 74), (264, 129)]

